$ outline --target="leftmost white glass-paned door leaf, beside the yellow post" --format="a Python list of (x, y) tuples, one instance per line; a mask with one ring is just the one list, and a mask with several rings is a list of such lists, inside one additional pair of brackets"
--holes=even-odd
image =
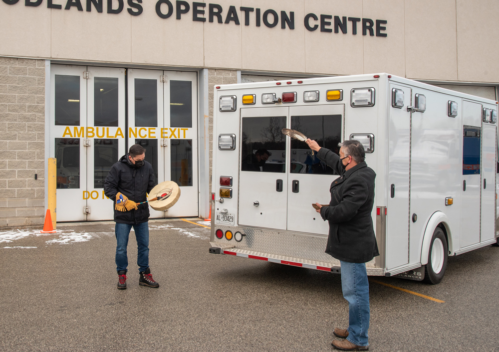
[[(52, 65), (50, 70), (49, 155), (56, 158), (57, 220), (86, 220), (84, 145), (87, 102), (85, 66)], [(82, 134), (83, 133), (83, 134)]]

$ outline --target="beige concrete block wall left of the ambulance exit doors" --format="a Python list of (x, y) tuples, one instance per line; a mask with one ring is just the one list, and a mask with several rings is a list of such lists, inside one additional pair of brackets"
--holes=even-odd
[(0, 227), (43, 224), (44, 131), (45, 61), (0, 57)]

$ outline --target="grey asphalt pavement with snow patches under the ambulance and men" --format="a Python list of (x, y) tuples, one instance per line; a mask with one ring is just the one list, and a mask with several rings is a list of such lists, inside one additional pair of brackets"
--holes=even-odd
[[(138, 284), (133, 232), (116, 289), (112, 222), (0, 230), (0, 351), (336, 351), (339, 275), (209, 254), (189, 220), (150, 222), (158, 289)], [(488, 246), (450, 257), (438, 285), (371, 278), (445, 302), (371, 281), (369, 350), (499, 352), (498, 268)]]

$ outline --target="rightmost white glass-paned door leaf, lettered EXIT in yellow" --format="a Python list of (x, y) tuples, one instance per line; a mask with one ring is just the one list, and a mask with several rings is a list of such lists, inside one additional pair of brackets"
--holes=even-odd
[(181, 201), (167, 210), (168, 217), (198, 216), (197, 74), (164, 71), (163, 140), (165, 179), (176, 182)]

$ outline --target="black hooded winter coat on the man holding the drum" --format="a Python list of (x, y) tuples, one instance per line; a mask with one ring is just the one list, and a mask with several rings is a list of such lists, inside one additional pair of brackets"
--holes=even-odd
[[(146, 193), (156, 185), (151, 164), (144, 161), (144, 166), (136, 169), (125, 154), (115, 163), (104, 181), (104, 193), (116, 204), (116, 194), (121, 192), (136, 203), (147, 200)], [(113, 205), (114, 206), (114, 205)], [(124, 224), (140, 224), (149, 219), (148, 203), (140, 204), (138, 209), (118, 211), (114, 209), (114, 221)]]

